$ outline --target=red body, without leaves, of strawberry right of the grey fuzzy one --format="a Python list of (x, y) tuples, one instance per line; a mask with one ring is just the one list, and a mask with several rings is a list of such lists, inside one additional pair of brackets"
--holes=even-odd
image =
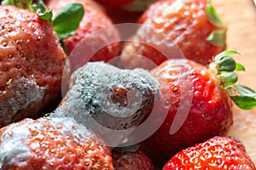
[[(189, 59), (170, 59), (152, 70), (151, 74), (162, 87), (162, 97), (160, 103), (154, 105), (157, 114), (152, 122), (152, 126), (161, 126), (141, 144), (151, 159), (163, 163), (179, 150), (228, 131), (232, 124), (230, 98), (206, 66)], [(159, 122), (159, 117), (166, 113), (168, 101), (166, 119)], [(177, 132), (170, 134), (177, 111), (188, 113), (188, 116), (184, 115), (182, 126), (176, 125)]]

